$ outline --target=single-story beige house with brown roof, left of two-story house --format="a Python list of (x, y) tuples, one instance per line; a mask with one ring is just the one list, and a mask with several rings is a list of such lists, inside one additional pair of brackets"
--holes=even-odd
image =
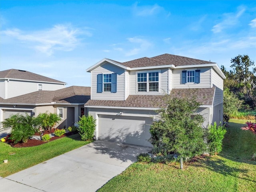
[(57, 113), (62, 120), (56, 125), (64, 128), (74, 125), (83, 114), (84, 104), (90, 99), (90, 87), (70, 86), (55, 91), (40, 90), (9, 99), (0, 98), (0, 122), (12, 114), (35, 116), (40, 113)]

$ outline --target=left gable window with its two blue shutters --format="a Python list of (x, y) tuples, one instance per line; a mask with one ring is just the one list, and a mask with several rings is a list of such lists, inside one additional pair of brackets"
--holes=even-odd
[(116, 73), (97, 75), (97, 93), (112, 92), (116, 93)]

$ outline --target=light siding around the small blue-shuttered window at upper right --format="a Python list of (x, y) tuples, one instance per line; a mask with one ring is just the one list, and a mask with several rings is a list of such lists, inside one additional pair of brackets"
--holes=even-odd
[[(182, 83), (183, 70), (200, 70), (200, 83)], [(173, 88), (210, 88), (210, 67), (173, 69)]]

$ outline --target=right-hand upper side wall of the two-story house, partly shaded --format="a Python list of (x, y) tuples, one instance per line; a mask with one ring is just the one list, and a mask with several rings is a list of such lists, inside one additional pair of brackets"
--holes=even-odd
[(216, 106), (218, 104), (223, 103), (223, 79), (216, 73), (216, 71), (212, 68), (212, 85), (216, 86), (213, 105)]

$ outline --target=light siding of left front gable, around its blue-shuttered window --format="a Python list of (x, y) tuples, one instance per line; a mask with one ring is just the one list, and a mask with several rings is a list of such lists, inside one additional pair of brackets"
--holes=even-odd
[[(117, 74), (116, 82), (116, 93), (102, 92), (97, 93), (97, 74)], [(114, 66), (106, 62), (105, 64), (97, 67), (91, 72), (92, 82), (91, 82), (91, 99), (92, 100), (124, 100), (124, 69)]]

